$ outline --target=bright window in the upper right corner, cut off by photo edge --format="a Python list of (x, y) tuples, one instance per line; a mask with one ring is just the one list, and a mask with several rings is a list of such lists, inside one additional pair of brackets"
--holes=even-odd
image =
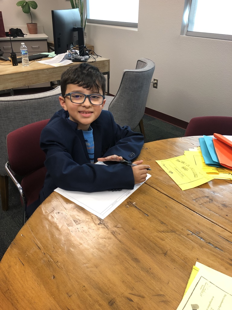
[(231, 0), (185, 0), (181, 35), (232, 40)]

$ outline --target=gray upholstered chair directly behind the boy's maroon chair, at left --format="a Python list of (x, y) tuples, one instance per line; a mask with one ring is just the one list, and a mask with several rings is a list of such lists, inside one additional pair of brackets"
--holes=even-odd
[(6, 136), (19, 127), (51, 118), (61, 108), (60, 95), (58, 86), (39, 94), (0, 97), (0, 191), (3, 210), (8, 209)]

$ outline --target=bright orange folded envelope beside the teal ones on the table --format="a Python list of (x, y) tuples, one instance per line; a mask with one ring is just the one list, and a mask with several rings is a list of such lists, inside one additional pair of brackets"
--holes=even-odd
[(220, 164), (232, 169), (232, 141), (220, 134), (213, 134), (213, 145)]

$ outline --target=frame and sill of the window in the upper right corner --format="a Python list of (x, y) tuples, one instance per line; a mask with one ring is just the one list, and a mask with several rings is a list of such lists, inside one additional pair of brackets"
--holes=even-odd
[(188, 17), (189, 17), (189, 11), (190, 11), (191, 4), (192, 4), (192, 0), (185, 0), (184, 2), (184, 11), (183, 11), (182, 24), (181, 24), (181, 31), (180, 31), (181, 36), (232, 41), (232, 35), (230, 34), (189, 31), (188, 30)]

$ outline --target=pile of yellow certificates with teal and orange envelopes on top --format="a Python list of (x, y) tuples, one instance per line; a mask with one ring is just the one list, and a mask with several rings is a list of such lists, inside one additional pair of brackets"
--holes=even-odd
[(184, 155), (156, 161), (182, 189), (194, 188), (213, 179), (232, 180), (231, 136), (214, 134), (199, 138), (200, 146)]

